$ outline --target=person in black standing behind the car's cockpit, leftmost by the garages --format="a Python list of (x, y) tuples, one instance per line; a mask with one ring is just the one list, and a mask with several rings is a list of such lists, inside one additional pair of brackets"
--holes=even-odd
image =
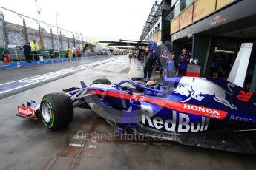
[(149, 48), (145, 48), (145, 64), (144, 64), (144, 78), (148, 78), (148, 80), (151, 77), (151, 72), (153, 70), (155, 64), (155, 59), (153, 58), (152, 52), (150, 52)]

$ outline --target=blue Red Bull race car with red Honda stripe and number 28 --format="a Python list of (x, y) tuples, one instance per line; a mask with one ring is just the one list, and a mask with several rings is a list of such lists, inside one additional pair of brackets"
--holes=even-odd
[[(168, 77), (160, 84), (107, 79), (51, 93), (19, 106), (18, 116), (41, 119), (50, 130), (73, 119), (73, 107), (92, 109), (114, 129), (229, 152), (256, 154), (255, 93), (217, 78)], [(157, 134), (157, 135), (156, 135)]]

